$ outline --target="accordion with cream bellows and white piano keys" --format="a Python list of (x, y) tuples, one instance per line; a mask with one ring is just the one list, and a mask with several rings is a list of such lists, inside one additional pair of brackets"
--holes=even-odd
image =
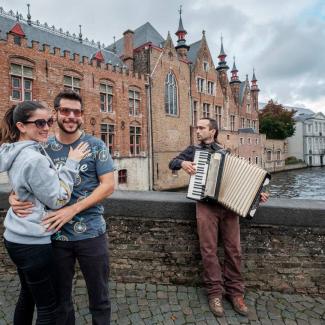
[(225, 150), (196, 150), (194, 162), (196, 173), (190, 178), (189, 199), (216, 201), (242, 217), (254, 216), (262, 188), (271, 179), (267, 171)]

